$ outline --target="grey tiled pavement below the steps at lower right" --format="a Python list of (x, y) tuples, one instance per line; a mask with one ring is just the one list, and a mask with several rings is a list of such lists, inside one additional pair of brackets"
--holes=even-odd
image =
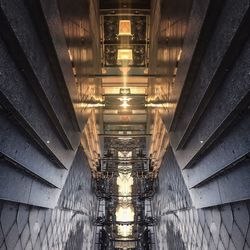
[(156, 249), (250, 249), (250, 201), (195, 209), (171, 149), (153, 205), (159, 221)]

